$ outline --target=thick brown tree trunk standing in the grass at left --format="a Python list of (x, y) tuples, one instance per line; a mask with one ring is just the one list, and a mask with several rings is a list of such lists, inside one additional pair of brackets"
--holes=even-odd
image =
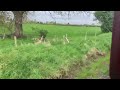
[(23, 37), (22, 18), (24, 11), (13, 11), (15, 20), (15, 32), (14, 36), (17, 38)]

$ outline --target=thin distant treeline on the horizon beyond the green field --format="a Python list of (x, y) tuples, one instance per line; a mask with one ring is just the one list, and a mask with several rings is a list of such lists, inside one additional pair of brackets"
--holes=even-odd
[(82, 24), (82, 25), (75, 25), (75, 24), (61, 24), (61, 23), (56, 23), (56, 22), (36, 22), (36, 21), (29, 21), (26, 23), (36, 23), (36, 24), (47, 24), (47, 25), (61, 25), (61, 26), (86, 26), (86, 27), (100, 27), (100, 25), (88, 25), (88, 24)]

